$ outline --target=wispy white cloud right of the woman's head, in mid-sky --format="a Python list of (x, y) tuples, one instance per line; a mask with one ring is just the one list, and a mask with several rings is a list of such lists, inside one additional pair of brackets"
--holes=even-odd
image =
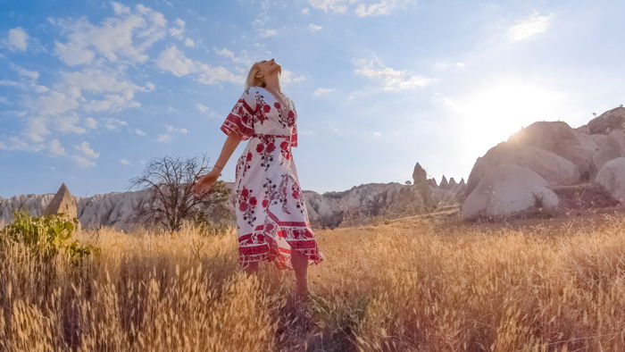
[(384, 90), (404, 90), (425, 87), (433, 80), (412, 71), (395, 70), (385, 66), (378, 57), (371, 60), (355, 59), (354, 72), (373, 80), (379, 80)]

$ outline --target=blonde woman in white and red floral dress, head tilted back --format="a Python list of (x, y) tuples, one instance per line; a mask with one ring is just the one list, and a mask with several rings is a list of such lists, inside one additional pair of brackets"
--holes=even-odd
[(309, 264), (324, 259), (312, 232), (304, 194), (299, 186), (291, 147), (297, 147), (296, 107), (282, 94), (282, 68), (273, 59), (256, 62), (246, 88), (221, 130), (228, 135), (221, 155), (194, 185), (204, 194), (241, 140), (246, 148), (237, 160), (233, 189), (237, 213), (238, 263), (248, 273), (261, 261), (293, 269), (296, 295), (307, 298)]

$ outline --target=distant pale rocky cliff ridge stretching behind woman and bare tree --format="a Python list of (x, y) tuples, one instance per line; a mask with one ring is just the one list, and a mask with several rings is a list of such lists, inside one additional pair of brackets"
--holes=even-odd
[[(464, 189), (460, 184), (437, 186), (436, 180), (427, 179), (425, 171), (417, 163), (413, 174), (419, 174), (415, 185), (397, 182), (367, 183), (341, 192), (319, 194), (304, 190), (304, 198), (313, 227), (335, 228), (339, 225), (365, 223), (372, 218), (396, 218), (435, 210), (438, 206), (457, 203), (457, 194)], [(433, 185), (430, 180), (434, 180)], [(231, 189), (232, 182), (226, 183)], [(17, 195), (0, 198), (0, 227), (12, 222), (14, 210), (23, 209), (31, 215), (44, 214), (53, 193), (43, 195)], [(111, 192), (93, 197), (75, 197), (80, 224), (89, 229), (112, 226), (129, 229), (136, 223), (137, 209), (149, 197), (147, 190)], [(235, 224), (234, 207), (227, 202), (231, 212), (226, 222)], [(218, 213), (222, 214), (222, 213)], [(223, 219), (212, 219), (223, 220)]]

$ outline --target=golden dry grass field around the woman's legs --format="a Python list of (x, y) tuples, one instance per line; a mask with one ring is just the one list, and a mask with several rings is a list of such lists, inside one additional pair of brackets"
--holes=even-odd
[(625, 215), (476, 224), (420, 217), (317, 230), (306, 309), (293, 272), (237, 268), (235, 230), (111, 229), (77, 269), (0, 258), (7, 351), (623, 351)]

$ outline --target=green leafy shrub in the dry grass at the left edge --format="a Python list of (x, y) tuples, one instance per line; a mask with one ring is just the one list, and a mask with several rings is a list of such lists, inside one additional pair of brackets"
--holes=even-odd
[(25, 212), (14, 212), (15, 220), (0, 230), (3, 243), (19, 242), (37, 256), (51, 258), (62, 254), (67, 256), (71, 264), (79, 265), (82, 259), (99, 251), (92, 245), (82, 245), (71, 240), (77, 229), (77, 218), (67, 219), (65, 214), (30, 216)]

